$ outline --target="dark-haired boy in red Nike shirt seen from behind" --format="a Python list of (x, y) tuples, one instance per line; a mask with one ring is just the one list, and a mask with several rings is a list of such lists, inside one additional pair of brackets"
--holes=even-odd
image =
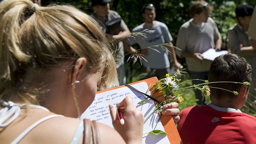
[[(209, 82), (251, 82), (252, 66), (236, 54), (221, 55), (212, 62)], [(256, 118), (242, 113), (249, 86), (212, 83), (211, 104), (180, 112), (178, 131), (184, 144), (249, 144), (256, 141)], [(233, 91), (238, 92), (234, 95)]]

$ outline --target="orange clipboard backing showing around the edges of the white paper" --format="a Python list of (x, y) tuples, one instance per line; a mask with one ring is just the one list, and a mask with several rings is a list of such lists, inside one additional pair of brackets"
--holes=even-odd
[[(145, 79), (145, 80), (141, 80), (141, 81), (138, 81), (138, 82), (134, 82), (134, 83), (131, 83), (129, 85), (132, 85), (132, 84), (137, 84), (137, 83), (140, 83), (140, 82), (146, 82), (148, 84), (148, 86), (151, 86), (153, 85), (156, 81), (158, 81), (158, 79), (156, 77), (151, 77), (151, 78), (148, 78), (148, 79)], [(114, 87), (114, 88), (110, 88), (110, 89), (107, 89), (107, 90), (102, 90), (102, 91), (98, 91), (98, 93), (101, 93), (101, 92), (106, 92), (106, 91), (111, 91), (111, 90), (115, 90), (115, 89), (118, 89), (118, 88), (121, 88), (121, 87), (125, 87), (125, 85), (121, 85), (121, 86), (118, 86), (118, 87)], [(150, 91), (152, 93), (152, 91)], [(162, 92), (159, 92), (159, 93), (155, 93), (153, 94), (153, 97), (157, 97), (159, 95), (161, 95)], [(160, 97), (156, 98), (157, 100), (160, 101)], [(161, 100), (161, 102), (163, 102), (164, 100)], [(155, 105), (157, 103), (155, 102)], [(176, 128), (176, 125), (172, 119), (172, 116), (171, 115), (162, 115), (161, 116), (161, 122), (163, 124), (163, 127), (164, 127), (164, 131), (167, 133), (167, 137), (170, 141), (171, 144), (182, 144), (181, 142), (181, 139), (180, 139), (180, 135), (178, 133), (178, 130)]]

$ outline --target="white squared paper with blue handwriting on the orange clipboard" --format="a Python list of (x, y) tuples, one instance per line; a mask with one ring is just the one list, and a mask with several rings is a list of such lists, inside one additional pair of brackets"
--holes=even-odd
[[(148, 90), (148, 84), (146, 82), (133, 84), (132, 87), (144, 93), (146, 93)], [(108, 105), (113, 104), (114, 106), (116, 106), (116, 104), (121, 102), (128, 95), (132, 97), (133, 104), (139, 110), (142, 111), (146, 119), (146, 117), (148, 117), (155, 109), (155, 104), (153, 103), (153, 100), (149, 100), (147, 102), (144, 102), (143, 104), (138, 104), (138, 102), (140, 102), (145, 98), (145, 96), (140, 92), (136, 92), (128, 87), (122, 87), (115, 90), (98, 93), (96, 94), (95, 99), (90, 105), (90, 107), (87, 108), (86, 111), (82, 114), (81, 119), (87, 118), (90, 120), (96, 120), (99, 123), (107, 124), (108, 126), (113, 128)], [(150, 92), (148, 92), (147, 94), (150, 94)], [(164, 131), (164, 127), (161, 121), (156, 126), (158, 119), (159, 119), (159, 116), (156, 112), (153, 113), (151, 116), (149, 116), (147, 121), (144, 123), (143, 133), (148, 133), (153, 130)], [(124, 120), (124, 123), (125, 123), (125, 120)], [(147, 144), (156, 144), (156, 143), (170, 144), (167, 136), (164, 134), (161, 134), (161, 135), (144, 134), (142, 142)]]

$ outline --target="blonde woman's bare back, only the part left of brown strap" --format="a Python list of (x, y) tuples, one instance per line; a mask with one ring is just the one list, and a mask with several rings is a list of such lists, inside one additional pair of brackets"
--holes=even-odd
[[(36, 113), (35, 113), (36, 112)], [(0, 133), (0, 139), (3, 144), (11, 143), (29, 126), (38, 120), (53, 115), (53, 113), (35, 110), (28, 112), (26, 116), (20, 115), (17, 120), (8, 125)], [(38, 124), (33, 128), (19, 144), (23, 143), (70, 143), (81, 120), (70, 117), (53, 117)], [(82, 142), (81, 142), (82, 143)], [(2, 144), (2, 142), (1, 142)]]

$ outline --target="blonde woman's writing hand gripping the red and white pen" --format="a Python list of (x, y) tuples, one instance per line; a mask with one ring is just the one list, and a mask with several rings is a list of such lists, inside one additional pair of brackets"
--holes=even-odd
[(117, 132), (123, 137), (126, 143), (142, 143), (144, 117), (132, 102), (132, 97), (127, 96), (118, 104), (124, 116), (124, 125), (120, 124), (116, 107), (109, 105), (112, 124)]

